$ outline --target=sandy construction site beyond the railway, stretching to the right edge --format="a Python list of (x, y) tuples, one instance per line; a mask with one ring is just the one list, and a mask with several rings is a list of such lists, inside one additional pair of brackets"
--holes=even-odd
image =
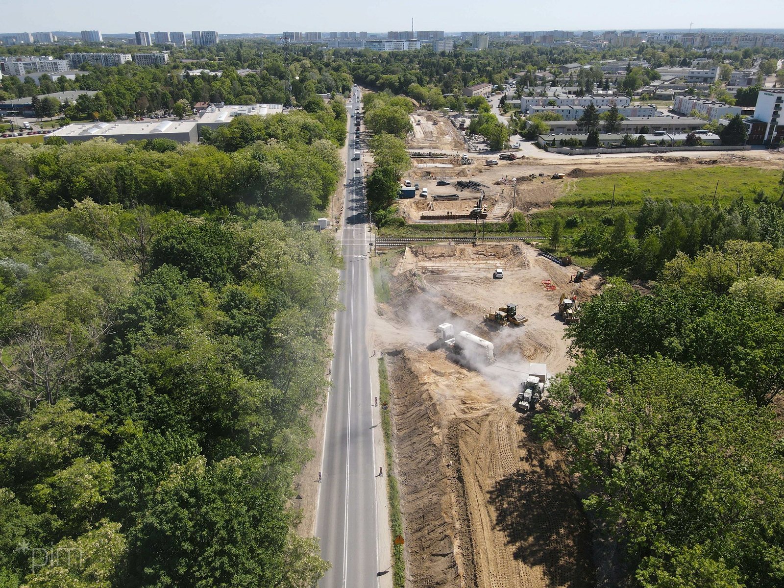
[[(525, 146), (524, 151), (470, 153), (459, 118), (429, 111), (411, 115), (408, 136), (412, 167), (401, 181), (405, 198), (398, 214), (407, 223), (489, 223), (510, 220), (512, 212), (550, 208), (581, 178), (629, 172), (706, 169), (706, 165), (780, 169), (780, 154), (764, 151), (699, 153), (689, 156), (568, 157)], [(408, 183), (406, 183), (408, 182)]]

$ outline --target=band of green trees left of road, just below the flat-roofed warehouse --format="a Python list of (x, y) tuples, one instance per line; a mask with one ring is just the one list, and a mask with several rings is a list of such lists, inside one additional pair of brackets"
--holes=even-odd
[(342, 100), (312, 113), (238, 117), (205, 137), (207, 145), (106, 140), (0, 146), (0, 198), (20, 212), (52, 210), (91, 198), (100, 204), (181, 211), (238, 205), (274, 209), (283, 220), (323, 212), (343, 164)]

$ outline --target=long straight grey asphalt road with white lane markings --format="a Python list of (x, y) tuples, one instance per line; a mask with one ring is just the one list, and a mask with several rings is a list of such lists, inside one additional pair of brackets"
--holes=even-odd
[[(349, 114), (359, 100), (352, 92)], [(322, 588), (376, 586), (379, 572), (376, 517), (376, 484), (379, 465), (373, 453), (372, 404), (374, 394), (366, 343), (370, 278), (369, 233), (361, 173), (354, 161), (356, 133), (350, 118), (347, 149), (347, 190), (343, 221), (343, 260), (340, 302), (346, 310), (337, 314), (332, 360), (332, 391), (329, 395), (321, 466), (316, 535), (321, 557), (332, 568), (321, 579)], [(360, 172), (355, 172), (360, 169)], [(386, 472), (385, 472), (386, 474)]]

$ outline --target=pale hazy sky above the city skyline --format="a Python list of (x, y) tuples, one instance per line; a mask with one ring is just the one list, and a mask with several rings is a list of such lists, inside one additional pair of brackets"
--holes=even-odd
[(784, 0), (0, 0), (2, 32), (567, 31), (784, 27)]

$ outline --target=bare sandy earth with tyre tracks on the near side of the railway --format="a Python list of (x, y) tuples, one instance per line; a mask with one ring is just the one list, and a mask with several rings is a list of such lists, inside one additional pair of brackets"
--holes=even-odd
[[(493, 280), (501, 264), (503, 280)], [(570, 360), (554, 316), (562, 292), (587, 299), (592, 277), (517, 244), (406, 249), (380, 304), (375, 347), (390, 365), (397, 470), (411, 586), (590, 586), (590, 536), (561, 456), (534, 441), (530, 415), (511, 406), (528, 362), (559, 372)], [(557, 285), (543, 289), (542, 280)], [(488, 310), (517, 303), (524, 327), (488, 328)], [(441, 322), (495, 345), (471, 372), (428, 350)]]

